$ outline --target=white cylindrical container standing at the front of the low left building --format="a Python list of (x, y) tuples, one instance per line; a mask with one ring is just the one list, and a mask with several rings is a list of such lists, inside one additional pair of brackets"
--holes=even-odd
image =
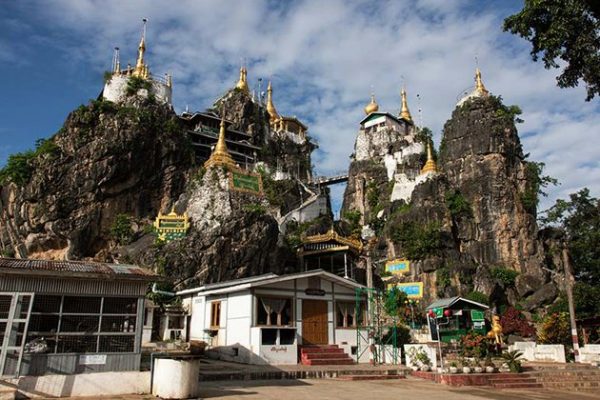
[(160, 355), (153, 359), (152, 394), (162, 399), (189, 399), (200, 395), (200, 357)]

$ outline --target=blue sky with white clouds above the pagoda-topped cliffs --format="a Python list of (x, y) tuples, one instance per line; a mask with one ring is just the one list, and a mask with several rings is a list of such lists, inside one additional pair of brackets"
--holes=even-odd
[(544, 205), (584, 186), (600, 194), (600, 100), (558, 89), (557, 71), (502, 32), (520, 1), (0, 1), (0, 165), (98, 95), (115, 46), (134, 60), (146, 17), (147, 60), (173, 74), (176, 110), (209, 106), (246, 58), (250, 82), (272, 79), (278, 110), (309, 125), (320, 173), (347, 168), (371, 90), (397, 112), (405, 82), (439, 143), (477, 56), (488, 89), (523, 109), (525, 152), (562, 183)]

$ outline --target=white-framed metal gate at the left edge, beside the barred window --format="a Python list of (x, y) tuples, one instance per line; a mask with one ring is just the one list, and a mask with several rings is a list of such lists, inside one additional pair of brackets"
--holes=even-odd
[(19, 376), (33, 293), (0, 293), (0, 377)]

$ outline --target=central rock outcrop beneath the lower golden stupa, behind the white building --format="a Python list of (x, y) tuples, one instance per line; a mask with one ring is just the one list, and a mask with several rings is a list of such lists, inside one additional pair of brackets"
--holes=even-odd
[(295, 259), (278, 244), (277, 221), (263, 196), (231, 190), (227, 171), (211, 168), (192, 182), (175, 210), (190, 217), (188, 235), (165, 245), (144, 241), (120, 249), (142, 265), (157, 266), (175, 289), (267, 272), (293, 272)]

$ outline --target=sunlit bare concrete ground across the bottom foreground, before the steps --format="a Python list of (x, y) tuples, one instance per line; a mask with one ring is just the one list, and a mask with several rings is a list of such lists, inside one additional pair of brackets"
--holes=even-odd
[[(493, 388), (451, 388), (420, 379), (387, 381), (339, 381), (335, 379), (203, 382), (201, 399), (225, 400), (587, 400), (598, 393), (550, 390), (498, 390)], [(94, 399), (108, 399), (108, 397)], [(110, 397), (114, 400), (150, 400), (149, 395)], [(82, 400), (79, 398), (78, 400)]]

